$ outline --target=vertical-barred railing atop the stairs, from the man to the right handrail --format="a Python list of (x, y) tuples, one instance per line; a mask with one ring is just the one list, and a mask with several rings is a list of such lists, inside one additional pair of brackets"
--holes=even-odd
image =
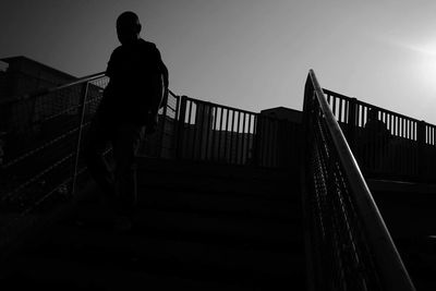
[[(228, 165), (289, 167), (299, 158), (300, 124), (181, 97), (177, 157)], [(284, 148), (292, 148), (289, 153)]]

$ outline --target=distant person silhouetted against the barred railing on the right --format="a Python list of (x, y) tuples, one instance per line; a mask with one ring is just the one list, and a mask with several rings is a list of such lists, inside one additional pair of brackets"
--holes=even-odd
[(365, 123), (366, 153), (370, 155), (370, 165), (380, 170), (384, 163), (385, 150), (390, 140), (390, 132), (385, 122), (378, 119), (378, 110), (371, 108)]

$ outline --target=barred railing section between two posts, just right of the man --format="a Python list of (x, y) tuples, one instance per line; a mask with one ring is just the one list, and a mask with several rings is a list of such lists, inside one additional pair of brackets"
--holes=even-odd
[(179, 158), (250, 165), (255, 146), (257, 113), (182, 98)]

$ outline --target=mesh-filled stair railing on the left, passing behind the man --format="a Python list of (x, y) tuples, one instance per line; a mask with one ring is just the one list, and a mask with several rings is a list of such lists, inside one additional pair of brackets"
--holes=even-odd
[[(4, 153), (0, 163), (0, 244), (8, 243), (4, 240), (13, 237), (17, 225), (69, 199), (87, 181), (83, 137), (107, 83), (108, 77), (98, 73), (0, 102)], [(143, 142), (143, 155), (174, 150), (174, 131), (169, 124), (174, 123), (178, 99), (170, 93), (159, 110), (160, 129)]]

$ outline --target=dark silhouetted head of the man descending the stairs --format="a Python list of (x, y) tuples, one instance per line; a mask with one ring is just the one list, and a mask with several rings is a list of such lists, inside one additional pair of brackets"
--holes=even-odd
[(129, 45), (140, 38), (140, 17), (132, 11), (120, 14), (117, 19), (117, 35), (121, 45)]

